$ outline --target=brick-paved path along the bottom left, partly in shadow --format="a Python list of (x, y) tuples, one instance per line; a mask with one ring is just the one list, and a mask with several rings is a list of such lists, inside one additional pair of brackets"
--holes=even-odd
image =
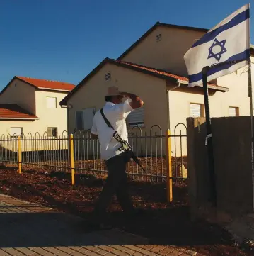
[(82, 219), (0, 194), (0, 256), (187, 256), (196, 252), (148, 245), (113, 229), (84, 233)]

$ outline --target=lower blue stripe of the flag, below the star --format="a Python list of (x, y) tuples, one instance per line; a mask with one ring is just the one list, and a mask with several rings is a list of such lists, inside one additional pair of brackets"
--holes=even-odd
[[(225, 60), (225, 62), (232, 61), (232, 60), (248, 60), (249, 57), (250, 57), (250, 49), (247, 49), (244, 52), (241, 52), (241, 53), (231, 56), (228, 60)], [(229, 69), (229, 67), (231, 67), (233, 65), (235, 65), (235, 63), (228, 63), (228, 64), (225, 64), (220, 67), (214, 67), (212, 69), (209, 69), (209, 71), (207, 72), (207, 77), (209, 77), (210, 75), (215, 74), (221, 70)], [(189, 83), (197, 82), (200, 80), (202, 80), (202, 72), (197, 73), (197, 74), (191, 74), (189, 76)]]

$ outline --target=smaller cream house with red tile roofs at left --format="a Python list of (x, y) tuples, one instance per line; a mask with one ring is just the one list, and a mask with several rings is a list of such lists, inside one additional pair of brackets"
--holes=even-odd
[(48, 135), (67, 131), (67, 110), (59, 102), (74, 84), (13, 77), (0, 93), (0, 135)]

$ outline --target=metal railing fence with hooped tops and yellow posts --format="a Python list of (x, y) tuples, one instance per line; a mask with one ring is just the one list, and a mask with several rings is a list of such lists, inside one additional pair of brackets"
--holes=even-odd
[[(152, 126), (149, 132), (134, 127), (129, 130), (128, 140), (146, 169), (144, 172), (131, 160), (127, 166), (130, 179), (167, 182), (169, 191), (173, 179), (187, 178), (186, 126), (183, 123), (175, 126), (174, 134), (168, 130), (163, 133), (160, 126)], [(0, 162), (18, 165), (19, 173), (23, 167), (71, 172), (71, 184), (75, 183), (75, 174), (97, 177), (107, 174), (105, 161), (100, 158), (100, 143), (91, 138), (91, 133), (79, 130), (69, 135), (63, 132), (57, 138), (50, 138), (47, 133), (2, 135)]]

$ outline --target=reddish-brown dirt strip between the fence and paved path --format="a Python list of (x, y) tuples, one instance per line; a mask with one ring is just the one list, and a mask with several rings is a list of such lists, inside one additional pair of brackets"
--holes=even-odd
[[(76, 214), (85, 220), (93, 209), (103, 182), (103, 179), (82, 176), (77, 177), (76, 184), (71, 186), (69, 174), (61, 172), (27, 169), (18, 174), (16, 167), (0, 169), (2, 193)], [(254, 252), (236, 247), (229, 233), (219, 226), (190, 221), (186, 182), (175, 184), (174, 202), (171, 204), (166, 203), (164, 183), (129, 182), (129, 186), (135, 206), (144, 208), (145, 215), (127, 225), (114, 199), (108, 210), (109, 218), (116, 227), (144, 235), (154, 244), (177, 245), (207, 256), (254, 255)]]

